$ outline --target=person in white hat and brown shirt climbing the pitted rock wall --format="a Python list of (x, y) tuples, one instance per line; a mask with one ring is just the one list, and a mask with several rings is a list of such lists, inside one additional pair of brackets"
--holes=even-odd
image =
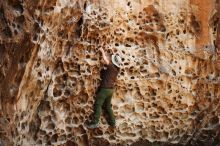
[(87, 125), (87, 127), (90, 129), (99, 127), (99, 119), (102, 107), (107, 112), (109, 117), (109, 125), (112, 127), (116, 126), (115, 116), (112, 111), (111, 99), (114, 92), (114, 83), (117, 79), (121, 66), (121, 58), (117, 54), (106, 54), (102, 48), (100, 51), (102, 53), (104, 61), (103, 63), (106, 65), (106, 69), (101, 71), (101, 84), (96, 94), (94, 104), (94, 119), (89, 125)]

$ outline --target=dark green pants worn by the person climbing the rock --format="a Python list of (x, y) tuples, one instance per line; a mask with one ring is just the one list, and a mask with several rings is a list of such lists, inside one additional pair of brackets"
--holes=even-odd
[(115, 116), (112, 111), (111, 99), (112, 99), (113, 89), (111, 88), (100, 88), (96, 95), (95, 105), (94, 105), (94, 123), (99, 122), (99, 118), (102, 112), (102, 106), (106, 110), (109, 116), (109, 124), (115, 126)]

